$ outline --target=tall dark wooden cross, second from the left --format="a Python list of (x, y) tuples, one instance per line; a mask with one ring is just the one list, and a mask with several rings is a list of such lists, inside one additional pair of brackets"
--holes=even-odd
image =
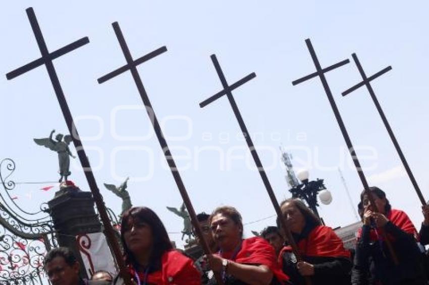
[[(128, 49), (128, 45), (125, 41), (124, 35), (122, 34), (121, 28), (119, 27), (118, 22), (112, 24), (113, 29), (115, 31), (116, 37), (118, 38), (119, 44), (121, 46), (122, 52), (124, 53), (125, 59), (127, 60), (127, 64), (124, 66), (114, 70), (113, 72), (101, 77), (98, 79), (98, 83), (106, 82), (117, 75), (122, 74), (129, 70), (133, 76), (134, 82), (137, 86), (137, 90), (140, 94), (141, 100), (143, 101), (144, 106), (146, 107), (147, 114), (149, 116), (150, 121), (152, 122), (153, 129), (155, 130), (156, 136), (159, 141), (159, 145), (161, 146), (163, 153), (166, 157), (167, 163), (170, 167), (170, 171), (173, 174), (174, 180), (176, 181), (176, 185), (179, 188), (179, 192), (182, 196), (183, 202), (188, 209), (189, 216), (191, 218), (192, 225), (195, 228), (195, 232), (201, 242), (202, 248), (206, 254), (211, 254), (210, 249), (206, 240), (204, 239), (204, 235), (202, 234), (201, 228), (199, 226), (194, 207), (192, 206), (191, 200), (189, 199), (188, 192), (186, 191), (185, 185), (183, 184), (182, 178), (180, 177), (179, 171), (176, 167), (176, 163), (174, 162), (173, 156), (170, 152), (170, 148), (167, 145), (167, 140), (164, 137), (164, 134), (159, 126), (158, 119), (153, 111), (152, 104), (150, 103), (149, 97), (147, 96), (146, 90), (144, 89), (143, 82), (141, 81), (140, 75), (137, 71), (137, 65), (143, 63), (159, 54), (162, 54), (167, 51), (167, 47), (160, 47), (136, 60), (131, 56), (130, 50)], [(217, 276), (217, 281), (221, 284), (222, 279)]]

